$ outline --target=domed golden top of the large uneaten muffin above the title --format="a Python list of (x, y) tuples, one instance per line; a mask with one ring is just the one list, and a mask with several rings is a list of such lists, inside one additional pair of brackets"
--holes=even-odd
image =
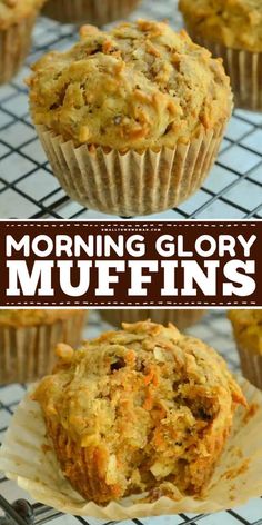
[(232, 106), (220, 60), (184, 31), (145, 20), (83, 27), (80, 42), (41, 58), (28, 82), (37, 125), (121, 151), (187, 143)]

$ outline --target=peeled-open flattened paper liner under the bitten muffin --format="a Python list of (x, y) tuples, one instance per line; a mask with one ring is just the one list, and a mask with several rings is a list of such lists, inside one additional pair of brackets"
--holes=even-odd
[[(242, 505), (262, 494), (262, 393), (243, 378), (239, 380), (250, 409), (239, 407), (231, 436), (205, 495), (161, 497), (141, 503), (141, 495), (99, 506), (84, 501), (62, 475), (47, 440), (38, 403), (28, 395), (19, 405), (0, 450), (0, 469), (36, 501), (60, 512), (108, 521), (179, 513), (212, 513)], [(143, 495), (144, 496), (144, 495)]]

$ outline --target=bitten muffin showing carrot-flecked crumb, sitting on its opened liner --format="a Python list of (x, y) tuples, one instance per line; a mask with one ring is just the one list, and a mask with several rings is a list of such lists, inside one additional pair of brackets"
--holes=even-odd
[(202, 494), (245, 404), (215, 350), (141, 321), (57, 353), (32, 398), (73, 488), (102, 505)]

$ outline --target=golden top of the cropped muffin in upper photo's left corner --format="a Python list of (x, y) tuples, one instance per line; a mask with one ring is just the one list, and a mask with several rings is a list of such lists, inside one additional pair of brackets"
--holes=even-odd
[(0, 0), (0, 29), (6, 29), (40, 9), (44, 0)]

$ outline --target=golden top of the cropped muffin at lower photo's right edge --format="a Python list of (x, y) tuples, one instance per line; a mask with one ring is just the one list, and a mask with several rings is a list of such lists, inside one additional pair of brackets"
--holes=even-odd
[(229, 318), (240, 348), (262, 355), (262, 310), (230, 310)]

